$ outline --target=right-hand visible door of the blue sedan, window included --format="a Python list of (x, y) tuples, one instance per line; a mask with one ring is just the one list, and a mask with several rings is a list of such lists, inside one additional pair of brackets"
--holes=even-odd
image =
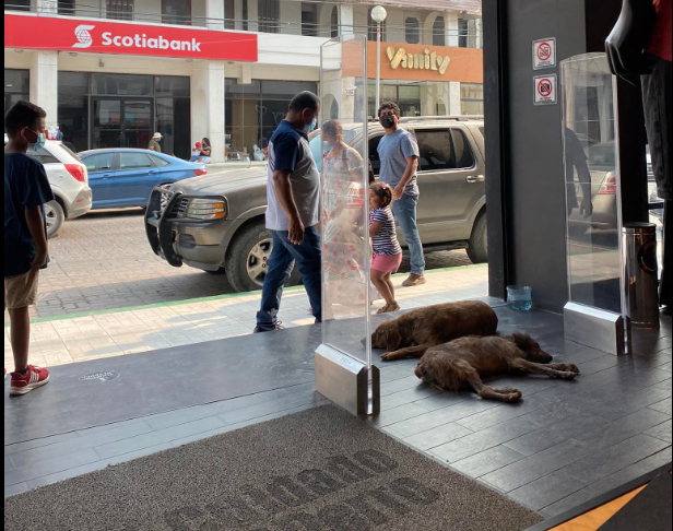
[(150, 191), (160, 173), (152, 156), (144, 152), (119, 153), (119, 170), (115, 177), (115, 197), (118, 206), (145, 206)]

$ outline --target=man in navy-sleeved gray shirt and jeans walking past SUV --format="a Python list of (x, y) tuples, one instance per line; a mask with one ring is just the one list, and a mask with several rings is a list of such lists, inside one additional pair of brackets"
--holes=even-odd
[(273, 250), (262, 288), (255, 332), (281, 328), (278, 315), (283, 286), (293, 264), (299, 268), (316, 322), (322, 321), (320, 236), (320, 173), (308, 143), (316, 129), (320, 99), (303, 92), (290, 104), (286, 119), (269, 142), (267, 228)]

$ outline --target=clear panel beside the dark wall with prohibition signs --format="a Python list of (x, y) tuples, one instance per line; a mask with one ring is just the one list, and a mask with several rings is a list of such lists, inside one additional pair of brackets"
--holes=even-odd
[(567, 59), (560, 70), (569, 298), (622, 314), (613, 78), (604, 54)]

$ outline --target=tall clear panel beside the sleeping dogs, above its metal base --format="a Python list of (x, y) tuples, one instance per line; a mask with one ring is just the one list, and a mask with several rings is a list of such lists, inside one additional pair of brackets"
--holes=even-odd
[(366, 72), (364, 37), (322, 46), (321, 131), (311, 148), (322, 174), (323, 344), (370, 368)]

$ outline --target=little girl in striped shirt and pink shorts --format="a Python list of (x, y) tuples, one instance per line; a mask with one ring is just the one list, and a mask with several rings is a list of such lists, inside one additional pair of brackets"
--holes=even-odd
[(402, 264), (402, 248), (392, 215), (392, 190), (388, 185), (375, 182), (369, 188), (369, 236), (374, 248), (371, 282), (386, 299), (378, 312), (397, 311), (400, 305), (394, 298), (394, 286), (390, 276)]

